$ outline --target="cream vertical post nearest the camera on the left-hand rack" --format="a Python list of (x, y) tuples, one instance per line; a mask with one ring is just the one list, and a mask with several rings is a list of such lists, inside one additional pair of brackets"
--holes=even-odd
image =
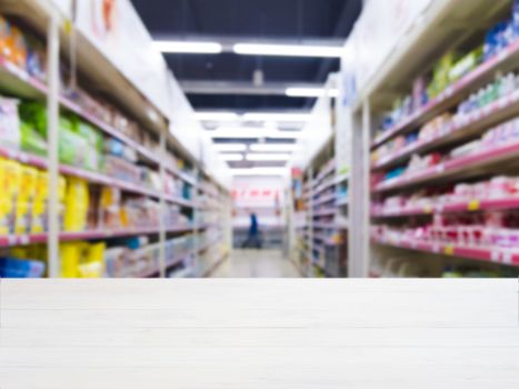
[(60, 66), (59, 66), (59, 17), (57, 11), (52, 10), (47, 31), (48, 41), (48, 82), (49, 93), (47, 96), (48, 112), (48, 174), (49, 174), (49, 209), (48, 209), (48, 263), (49, 277), (60, 276), (59, 259), (59, 93), (60, 93)]

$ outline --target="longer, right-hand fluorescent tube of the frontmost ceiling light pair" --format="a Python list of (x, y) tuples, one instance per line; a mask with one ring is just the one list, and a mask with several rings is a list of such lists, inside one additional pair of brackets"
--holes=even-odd
[(244, 56), (340, 58), (345, 49), (308, 44), (236, 43), (232, 50)]

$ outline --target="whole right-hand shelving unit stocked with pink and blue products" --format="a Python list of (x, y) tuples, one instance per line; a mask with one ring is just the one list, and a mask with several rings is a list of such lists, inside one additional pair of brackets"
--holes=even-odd
[[(476, 50), (510, 18), (512, 1), (418, 1), (412, 11), (379, 48), (388, 57), (371, 77), (343, 61), (342, 77), (358, 82), (353, 97), (342, 91), (340, 112), (352, 144), (351, 276), (517, 276), (519, 38), (482, 59)], [(368, 8), (352, 40), (377, 17)], [(437, 81), (459, 59), (463, 71)], [(380, 126), (398, 98), (401, 108)]]

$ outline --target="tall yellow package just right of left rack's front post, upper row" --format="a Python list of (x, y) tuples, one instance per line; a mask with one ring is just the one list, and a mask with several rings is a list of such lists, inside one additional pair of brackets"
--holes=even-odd
[(86, 229), (88, 203), (88, 182), (78, 178), (68, 178), (63, 216), (66, 231), (82, 231)]

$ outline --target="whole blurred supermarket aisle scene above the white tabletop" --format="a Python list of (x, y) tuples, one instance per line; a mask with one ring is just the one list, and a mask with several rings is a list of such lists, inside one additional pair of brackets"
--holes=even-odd
[(519, 1), (0, 0), (0, 276), (518, 277)]

